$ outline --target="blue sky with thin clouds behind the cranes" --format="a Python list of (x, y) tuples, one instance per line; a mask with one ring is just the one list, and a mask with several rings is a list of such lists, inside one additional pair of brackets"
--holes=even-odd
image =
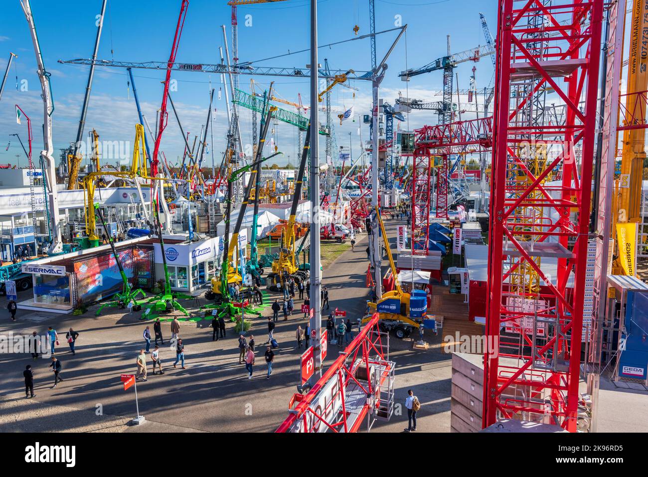
[[(95, 16), (100, 12), (101, 0), (32, 0), (32, 11), (40, 38), (45, 67), (52, 75), (52, 91), (56, 110), (53, 115), (55, 157), (58, 149), (75, 140), (76, 128), (87, 80), (87, 67), (58, 64), (58, 60), (89, 58), (95, 40)], [(180, 0), (126, 1), (109, 0), (104, 30), (98, 58), (121, 61), (166, 61), (170, 52), (174, 29), (178, 19)], [(223, 45), (221, 25), (227, 26), (227, 41), (231, 48), (231, 10), (226, 0), (192, 0), (187, 13), (185, 28), (179, 45), (178, 62), (218, 63), (218, 47)], [(319, 10), (319, 43), (354, 38), (353, 27), (358, 25), (358, 35), (369, 32), (369, 2), (367, 0), (321, 0)], [(270, 56), (285, 54), (308, 47), (309, 1), (288, 0), (275, 5), (252, 5), (238, 7), (238, 43), (241, 62), (260, 60)], [(398, 73), (406, 67), (419, 67), (443, 56), (446, 52), (446, 34), (451, 35), (452, 52), (483, 45), (485, 43), (479, 13), (483, 12), (489, 21), (491, 31), (496, 30), (496, 2), (463, 0), (376, 0), (376, 30), (391, 29), (400, 18), (408, 24), (406, 36), (388, 60), (389, 69), (382, 84), (381, 97), (393, 101), (399, 91), (404, 96), (423, 100), (440, 100), (435, 94), (441, 89), (441, 72), (417, 76), (411, 82), (400, 80)], [(246, 17), (248, 16), (248, 17)], [(248, 24), (246, 26), (246, 20)], [(395, 38), (395, 32), (378, 36), (378, 60)], [(42, 148), (42, 106), (40, 84), (36, 76), (36, 61), (29, 36), (27, 21), (23, 16), (18, 0), (3, 1), (3, 16), (0, 18), (0, 70), (4, 73), (8, 53), (12, 51), (19, 58), (14, 59), (7, 79), (5, 93), (0, 101), (0, 163), (16, 164), (16, 154), (21, 153), (17, 141), (12, 140), (8, 151), (6, 145), (9, 134), (19, 133), (27, 138), (25, 124), (15, 121), (14, 104), (19, 104), (32, 118), (34, 130), (34, 158)], [(112, 52), (111, 52), (112, 51)], [(328, 58), (333, 69), (367, 70), (371, 67), (369, 40), (358, 40), (335, 47), (319, 50), (320, 62)], [(275, 67), (304, 67), (308, 62), (308, 52), (274, 58), (257, 65)], [(469, 84), (472, 66), (477, 67), (478, 87), (489, 84), (492, 76), (490, 58), (483, 58), (477, 64), (472, 62), (459, 65), (459, 87), (465, 89)], [(0, 73), (0, 74), (1, 74)], [(156, 110), (161, 104), (163, 71), (135, 70), (135, 82), (143, 111), (154, 124)], [(27, 91), (16, 90), (18, 82), (27, 80)], [(252, 76), (240, 76), (242, 89), (249, 90)], [(224, 89), (220, 77), (205, 73), (174, 72), (172, 78), (178, 80), (178, 91), (172, 93), (178, 107), (185, 132), (191, 137), (200, 133), (209, 106), (209, 81), (218, 92)], [(294, 78), (271, 78), (255, 76), (259, 88), (268, 87), (275, 80), (277, 95), (284, 99), (297, 101), (301, 93), (304, 104), (308, 98), (308, 80)], [(131, 141), (134, 137), (134, 124), (137, 111), (127, 85), (125, 69), (97, 68), (93, 82), (92, 96), (86, 121), (86, 133), (96, 128), (102, 141)], [(351, 86), (336, 87), (332, 93), (332, 109), (341, 111), (354, 106), (356, 117), (367, 113), (371, 104), (371, 85), (369, 82), (356, 81)], [(355, 97), (353, 95), (355, 93)], [(463, 99), (462, 99), (463, 100)], [(279, 105), (281, 106), (281, 105)], [(217, 110), (214, 126), (214, 152), (216, 164), (225, 145), (227, 129), (226, 104), (224, 93), (214, 102)], [(290, 106), (284, 106), (292, 110)], [(170, 111), (170, 109), (169, 109)], [(170, 112), (170, 114), (172, 114)], [(465, 118), (470, 117), (466, 115)], [(320, 113), (323, 121), (324, 113)], [(423, 124), (436, 122), (436, 115), (430, 111), (414, 111), (407, 115), (408, 123), (402, 129), (414, 129)], [(248, 111), (241, 113), (241, 128), (244, 143), (251, 141), (251, 116)], [(340, 145), (349, 144), (349, 132), (354, 149), (359, 148), (357, 134), (360, 120), (346, 121), (342, 126), (336, 122), (337, 140)], [(154, 126), (153, 126), (154, 127)], [(284, 153), (277, 163), (286, 163), (288, 156), (294, 163), (299, 150), (296, 145), (297, 133), (290, 124), (280, 123), (273, 131), (279, 150)], [(368, 128), (363, 126), (362, 137), (367, 139)], [(208, 136), (208, 141), (210, 141)], [(324, 141), (321, 139), (321, 148)], [(162, 150), (170, 162), (181, 156), (183, 140), (172, 115), (163, 134)], [(323, 154), (323, 153), (322, 153)], [(129, 152), (130, 156), (130, 152)], [(355, 156), (355, 154), (354, 154)], [(25, 157), (20, 157), (25, 165)], [(113, 161), (114, 162), (114, 161)], [(211, 165), (211, 158), (205, 161)]]

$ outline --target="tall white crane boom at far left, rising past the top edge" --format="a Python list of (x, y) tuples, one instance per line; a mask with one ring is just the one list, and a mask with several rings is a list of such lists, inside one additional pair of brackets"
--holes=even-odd
[[(60, 211), (58, 210), (58, 190), (56, 189), (56, 163), (54, 163), (54, 146), (52, 144), (52, 113), (54, 113), (54, 104), (52, 102), (52, 88), (49, 82), (50, 73), (45, 70), (43, 64), (43, 55), (41, 53), (40, 44), (38, 43), (38, 34), (36, 34), (36, 25), (34, 24), (34, 16), (32, 15), (32, 8), (29, 0), (21, 0), (21, 7), (27, 23), (29, 23), (29, 30), (32, 37), (32, 44), (34, 45), (34, 53), (36, 54), (36, 64), (38, 65), (38, 78), (41, 84), (41, 98), (43, 99), (43, 150), (41, 150), (41, 157), (45, 162), (43, 168), (43, 176), (45, 183), (49, 189), (49, 228), (52, 235), (52, 242), (49, 244), (47, 253), (56, 255), (63, 251), (63, 239), (61, 236), (61, 222)], [(33, 187), (32, 181), (34, 176), (30, 176), (30, 187)], [(35, 207), (35, 200), (32, 197), (32, 208)], [(34, 227), (36, 224), (34, 224)]]

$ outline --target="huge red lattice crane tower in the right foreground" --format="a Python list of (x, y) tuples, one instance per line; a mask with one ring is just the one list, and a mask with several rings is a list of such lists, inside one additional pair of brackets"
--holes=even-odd
[[(500, 0), (498, 12), (483, 426), (574, 432), (603, 0)], [(521, 98), (515, 85), (529, 78)], [(522, 120), (548, 90), (564, 122)], [(542, 158), (522, 154), (538, 146)]]

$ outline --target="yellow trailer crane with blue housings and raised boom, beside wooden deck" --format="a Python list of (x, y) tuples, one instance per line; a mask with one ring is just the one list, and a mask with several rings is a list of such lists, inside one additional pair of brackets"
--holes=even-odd
[[(382, 223), (380, 216), (380, 209), (376, 207), (376, 216), (378, 217), (378, 224), (380, 224), (380, 231), (382, 237), (388, 237), (385, 231), (385, 225)], [(382, 294), (378, 303), (367, 303), (367, 316), (360, 321), (361, 325), (371, 320), (373, 314), (378, 312), (380, 320), (378, 326), (382, 331), (394, 331), (397, 338), (402, 339), (410, 335), (410, 333), (419, 329), (422, 320), (425, 318), (426, 311), (428, 310), (428, 297), (424, 290), (412, 290), (411, 294), (403, 292), (400, 288), (398, 272), (396, 264), (391, 255), (391, 249), (386, 247), (387, 257), (389, 258), (389, 266), (391, 273), (394, 277), (395, 290)]]

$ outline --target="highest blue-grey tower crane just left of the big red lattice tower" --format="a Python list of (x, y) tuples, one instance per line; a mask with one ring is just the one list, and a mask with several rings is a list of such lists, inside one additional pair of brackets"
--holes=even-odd
[(482, 47), (481, 45), (476, 48), (471, 48), (459, 53), (451, 54), (450, 53), (450, 35), (447, 37), (448, 43), (448, 54), (446, 56), (441, 56), (431, 63), (424, 65), (419, 68), (406, 69), (400, 73), (400, 79), (403, 81), (410, 81), (412, 76), (423, 75), (424, 73), (430, 73), (431, 71), (443, 70), (443, 105), (439, 111), (439, 122), (441, 124), (446, 124), (452, 122), (452, 78), (454, 76), (453, 70), (458, 64), (465, 62), (478, 62), (482, 56), (493, 54), (495, 52), (492, 45), (486, 45)]

